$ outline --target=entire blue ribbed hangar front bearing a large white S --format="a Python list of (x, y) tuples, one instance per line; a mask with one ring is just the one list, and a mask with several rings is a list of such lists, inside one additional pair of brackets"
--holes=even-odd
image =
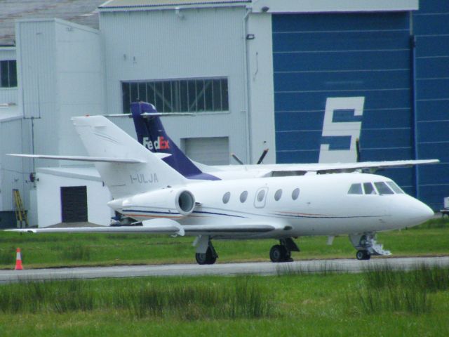
[(441, 164), (379, 173), (442, 206), (449, 196), (449, 18), (436, 23), (444, 15), (431, 13), (449, 1), (431, 2), (414, 15), (272, 15), (279, 163), (355, 161), (356, 138), (362, 161), (438, 158)]

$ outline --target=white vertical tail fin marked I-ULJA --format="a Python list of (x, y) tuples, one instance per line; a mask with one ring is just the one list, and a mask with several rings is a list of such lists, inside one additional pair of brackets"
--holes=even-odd
[[(91, 157), (117, 158), (119, 161), (95, 161), (95, 167), (112, 197), (126, 197), (187, 183), (185, 177), (105, 117), (74, 117), (72, 121)], [(130, 162), (125, 159), (130, 159)]]

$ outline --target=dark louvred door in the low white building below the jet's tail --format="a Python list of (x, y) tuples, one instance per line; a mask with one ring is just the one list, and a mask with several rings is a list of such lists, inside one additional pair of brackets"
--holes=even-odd
[(63, 223), (87, 221), (86, 186), (61, 187), (61, 218)]

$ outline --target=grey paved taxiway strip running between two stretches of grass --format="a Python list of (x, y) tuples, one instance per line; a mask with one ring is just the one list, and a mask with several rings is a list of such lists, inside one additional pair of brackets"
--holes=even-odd
[[(411, 270), (421, 265), (449, 266), (449, 256), (427, 258), (373, 258), (371, 260), (298, 260), (288, 263), (217, 263), (215, 265), (126, 265), (30, 270), (0, 270), (0, 283), (43, 279), (96, 279), (101, 277), (194, 276), (194, 275), (277, 275), (282, 272), (363, 272), (370, 267), (388, 266)], [(26, 266), (25, 266), (26, 267)]]

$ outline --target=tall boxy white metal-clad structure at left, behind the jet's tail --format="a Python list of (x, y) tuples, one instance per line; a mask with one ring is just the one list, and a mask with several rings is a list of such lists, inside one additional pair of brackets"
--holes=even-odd
[(29, 131), (34, 117), (35, 152), (85, 153), (70, 117), (105, 112), (99, 32), (62, 20), (20, 21), (17, 27), (22, 106)]

